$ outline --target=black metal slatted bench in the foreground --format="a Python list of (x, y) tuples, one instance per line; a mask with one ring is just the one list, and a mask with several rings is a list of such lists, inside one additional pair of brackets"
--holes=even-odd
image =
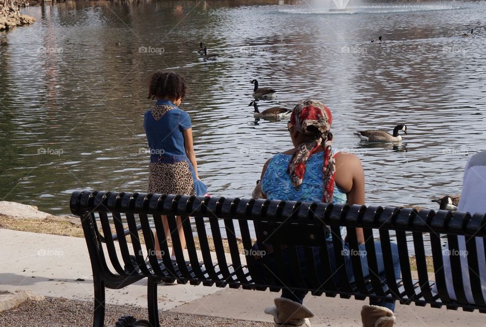
[[(478, 309), (486, 313), (476, 243), (467, 242), (474, 303), (466, 300), (460, 258), (451, 256), (457, 300), (449, 298), (446, 284), (451, 281), (446, 280), (442, 269), (443, 238), (447, 238), (449, 250), (453, 252), (459, 250), (458, 235), (465, 236), (466, 240), (473, 236), (484, 237), (486, 220), (482, 214), (471, 216), (443, 210), (434, 212), (396, 207), (91, 191), (74, 192), (70, 207), (72, 213), (81, 218), (90, 253), (95, 290), (94, 326), (104, 323), (105, 287), (122, 288), (142, 278), (148, 278), (148, 314), (155, 326), (159, 325), (157, 283), (175, 280), (194, 285), (203, 283), (206, 286), (257, 290), (269, 288), (272, 292), (286, 287), (309, 291), (317, 296), (326, 294), (335, 297), (339, 294), (342, 298), (354, 296), (358, 300), (398, 300), (403, 304), (413, 302), (419, 306), (428, 303), (434, 308), (445, 305), (448, 309), (462, 307), (465, 311)], [(170, 258), (161, 215), (168, 216), (175, 261)], [(182, 217), (186, 250), (181, 247), (176, 216)], [(259, 248), (265, 248), (263, 243), (273, 246), (274, 265), (277, 268), (273, 272), (262, 271), (258, 267), (252, 247), (252, 223)], [(326, 260), (321, 260), (320, 274), (323, 275), (317, 276), (315, 258), (310, 249), (310, 246), (319, 247), (321, 258), (328, 256), (327, 226), (332, 231), (335, 258), (337, 267), (340, 267), (337, 273), (339, 283), (331, 278), (334, 272)], [(351, 257), (355, 276), (353, 283), (348, 281), (343, 268), (344, 259), (340, 255), (343, 250), (340, 226), (346, 227), (350, 250), (358, 250), (354, 228), (362, 227), (365, 233), (370, 276), (363, 276), (359, 258)], [(161, 260), (155, 256), (152, 229), (159, 236)], [(387, 290), (384, 290), (382, 280), (375, 273), (378, 270), (373, 230), (379, 231)], [(209, 231), (211, 236), (208, 236)], [(399, 279), (390, 264), (390, 232), (398, 245), (401, 266)], [(214, 251), (210, 248), (211, 238)], [(238, 243), (242, 243), (244, 251)], [(289, 254), (290, 266), (282, 259), (281, 245)], [(307, 276), (302, 276), (299, 269), (297, 245), (305, 250)], [(427, 273), (426, 246), (431, 249), (435, 281), (429, 280)], [(411, 270), (412, 250), (417, 266), (416, 279)], [(242, 252), (245, 253), (244, 258)], [(148, 260), (145, 259), (147, 255)], [(268, 264), (267, 256), (259, 260)], [(292, 280), (287, 278), (288, 271), (292, 273)], [(323, 280), (326, 282), (322, 283)]]

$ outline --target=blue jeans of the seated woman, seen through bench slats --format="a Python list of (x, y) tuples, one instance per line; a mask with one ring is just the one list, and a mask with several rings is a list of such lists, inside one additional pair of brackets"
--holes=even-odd
[[(398, 278), (400, 278), (400, 275), (401, 275), (401, 273), (400, 273), (400, 262), (399, 262), (399, 258), (398, 258), (398, 247), (395, 243), (390, 243), (390, 245), (391, 245), (391, 255), (392, 255), (392, 258), (393, 258), (393, 269), (395, 271), (395, 278), (398, 279)], [(366, 247), (365, 247), (365, 244), (360, 244), (358, 246), (359, 246), (359, 251), (355, 255), (358, 255), (361, 259), (361, 268), (363, 270), (363, 276), (365, 276), (365, 278), (366, 278), (367, 276), (370, 275), (370, 269), (368, 268), (368, 261), (367, 261), (367, 258), (366, 258)], [(254, 245), (254, 249), (257, 249), (256, 244)], [(385, 278), (385, 275), (384, 275), (385, 265), (383, 263), (383, 255), (382, 255), (382, 249), (381, 249), (380, 242), (375, 242), (375, 251), (376, 251), (376, 259), (377, 259), (379, 277), (382, 281), (386, 281), (386, 278)], [(333, 243), (331, 241), (328, 241), (328, 253), (329, 253), (329, 256), (330, 256), (329, 259), (330, 259), (331, 267), (332, 267), (333, 271), (336, 271), (337, 270), (336, 260), (334, 258)], [(351, 265), (351, 254), (352, 253), (349, 250), (348, 243), (343, 243), (342, 253), (343, 253), (343, 256), (344, 256), (344, 262), (345, 262), (346, 272), (347, 272), (347, 275), (348, 275), (348, 278), (349, 278), (349, 282), (354, 282), (353, 268), (352, 268), (352, 265)], [(299, 256), (301, 270), (305, 270), (306, 269), (305, 268), (306, 263), (305, 263), (304, 250), (303, 250), (302, 247), (297, 248), (297, 255)], [(282, 250), (282, 256), (284, 257), (284, 261), (288, 262), (290, 264), (290, 258), (289, 258), (287, 250)], [(274, 268), (273, 263), (275, 261), (274, 261), (273, 255), (269, 255), (268, 259), (269, 259), (270, 265), (273, 266), (273, 267), (271, 267), (271, 269)], [(320, 255), (319, 255), (317, 248), (314, 248), (314, 260), (315, 260), (316, 267), (318, 267), (320, 265)], [(257, 263), (259, 263), (259, 262), (260, 262), (260, 260), (257, 260)], [(260, 266), (260, 264), (258, 266)], [(261, 267), (261, 269), (265, 269), (265, 268)], [(335, 273), (333, 275), (333, 281), (336, 284), (339, 284), (339, 277), (337, 276), (337, 273)], [(386, 289), (387, 289), (387, 287), (384, 286), (384, 290), (386, 290)], [(289, 290), (287, 288), (283, 288), (281, 297), (286, 298), (286, 299), (290, 299), (292, 301), (295, 301), (295, 302), (302, 304), (302, 301), (304, 300), (304, 297), (305, 297), (306, 294), (307, 294), (307, 292), (305, 292), (305, 291), (293, 291), (292, 292), (291, 290)], [(395, 309), (395, 301), (390, 302), (390, 301), (386, 301), (384, 299), (379, 300), (379, 301), (371, 301), (370, 300), (370, 304), (386, 307), (386, 308), (388, 308), (392, 311)]]

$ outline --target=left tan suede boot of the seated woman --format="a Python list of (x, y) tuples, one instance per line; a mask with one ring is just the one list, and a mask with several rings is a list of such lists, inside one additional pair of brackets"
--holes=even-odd
[(314, 314), (305, 306), (289, 299), (276, 298), (274, 307), (265, 309), (266, 314), (271, 314), (275, 321), (275, 327), (310, 327), (309, 318)]

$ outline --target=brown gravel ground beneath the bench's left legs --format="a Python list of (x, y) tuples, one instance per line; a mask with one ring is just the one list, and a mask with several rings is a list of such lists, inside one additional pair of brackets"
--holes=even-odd
[[(105, 325), (114, 326), (118, 318), (131, 315), (137, 319), (147, 319), (147, 309), (107, 305), (105, 311)], [(28, 300), (18, 307), (0, 312), (0, 326), (2, 327), (57, 327), (79, 326), (92, 324), (93, 303), (58, 298), (46, 298), (43, 301)], [(160, 311), (160, 325), (170, 327), (208, 327), (208, 326), (273, 326), (272, 323), (235, 320), (228, 318), (182, 314)]]

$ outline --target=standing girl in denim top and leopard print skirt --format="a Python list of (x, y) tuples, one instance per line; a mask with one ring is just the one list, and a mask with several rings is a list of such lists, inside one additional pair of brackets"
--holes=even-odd
[[(145, 113), (143, 121), (150, 149), (149, 193), (204, 195), (208, 190), (197, 174), (191, 119), (178, 107), (186, 89), (184, 78), (173, 72), (157, 71), (150, 78), (148, 98), (157, 102)], [(167, 217), (162, 219), (167, 236)], [(184, 248), (181, 217), (177, 217), (177, 226)], [(158, 242), (155, 245), (160, 253)]]

